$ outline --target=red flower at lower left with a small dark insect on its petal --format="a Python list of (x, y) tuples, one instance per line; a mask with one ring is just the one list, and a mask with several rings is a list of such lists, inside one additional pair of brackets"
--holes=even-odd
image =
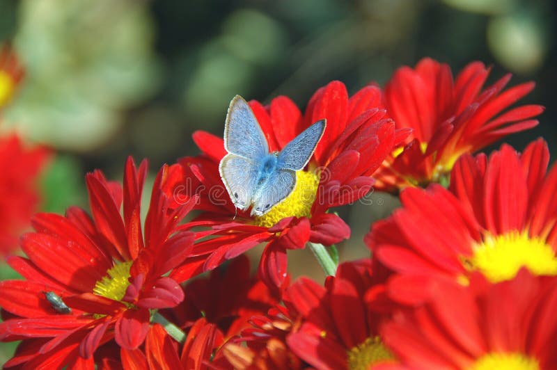
[[(21, 241), (28, 258), (8, 257), (25, 280), (0, 282), (0, 305), (8, 312), (0, 324), (0, 339), (24, 339), (6, 367), (92, 367), (98, 346), (115, 339), (122, 348), (137, 348), (149, 329), (149, 310), (182, 301), (180, 285), (164, 275), (191, 250), (194, 235), (175, 232), (175, 225), (195, 199), (168, 209), (166, 190), (180, 167), (165, 165), (155, 179), (142, 231), (146, 172), (146, 161), (136, 169), (128, 159), (123, 188), (107, 182), (100, 171), (88, 174), (93, 218), (77, 207), (68, 209), (65, 217), (33, 218), (36, 232)], [(47, 300), (49, 292), (63, 303)]]

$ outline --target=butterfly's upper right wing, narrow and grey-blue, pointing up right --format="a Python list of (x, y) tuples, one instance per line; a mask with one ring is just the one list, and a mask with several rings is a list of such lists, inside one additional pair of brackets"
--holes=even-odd
[(321, 140), (325, 126), (325, 120), (317, 121), (292, 139), (278, 153), (278, 167), (293, 171), (304, 168)]

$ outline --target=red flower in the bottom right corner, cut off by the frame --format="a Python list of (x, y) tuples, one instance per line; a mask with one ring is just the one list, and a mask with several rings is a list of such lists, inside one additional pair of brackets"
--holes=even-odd
[(410, 369), (556, 369), (557, 278), (525, 269), (489, 284), (450, 284), (426, 305), (393, 315), (380, 328)]

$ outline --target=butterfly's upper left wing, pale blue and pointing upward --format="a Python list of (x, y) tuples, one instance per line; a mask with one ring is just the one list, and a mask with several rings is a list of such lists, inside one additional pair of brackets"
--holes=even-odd
[(230, 102), (224, 124), (224, 148), (227, 152), (248, 159), (260, 159), (269, 154), (267, 140), (256, 116), (240, 95)]

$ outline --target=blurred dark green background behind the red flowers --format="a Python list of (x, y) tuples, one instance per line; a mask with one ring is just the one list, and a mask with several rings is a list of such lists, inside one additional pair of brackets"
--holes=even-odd
[[(220, 135), (235, 94), (303, 108), (332, 79), (355, 92), (431, 56), (455, 74), (480, 60), (490, 81), (536, 81), (522, 102), (547, 107), (541, 124), (507, 141), (521, 150), (544, 136), (555, 154), (556, 25), (553, 0), (0, 0), (0, 42), (13, 40), (27, 69), (0, 131), (56, 150), (42, 208), (63, 212), (86, 205), (94, 168), (121, 179), (129, 154), (152, 172), (196, 154), (191, 133)], [(352, 226), (341, 259), (366, 255), (363, 234), (396, 204), (372, 198), (340, 210)], [(295, 275), (320, 277), (308, 251), (292, 257)], [(0, 345), (0, 364), (9, 351)]]

